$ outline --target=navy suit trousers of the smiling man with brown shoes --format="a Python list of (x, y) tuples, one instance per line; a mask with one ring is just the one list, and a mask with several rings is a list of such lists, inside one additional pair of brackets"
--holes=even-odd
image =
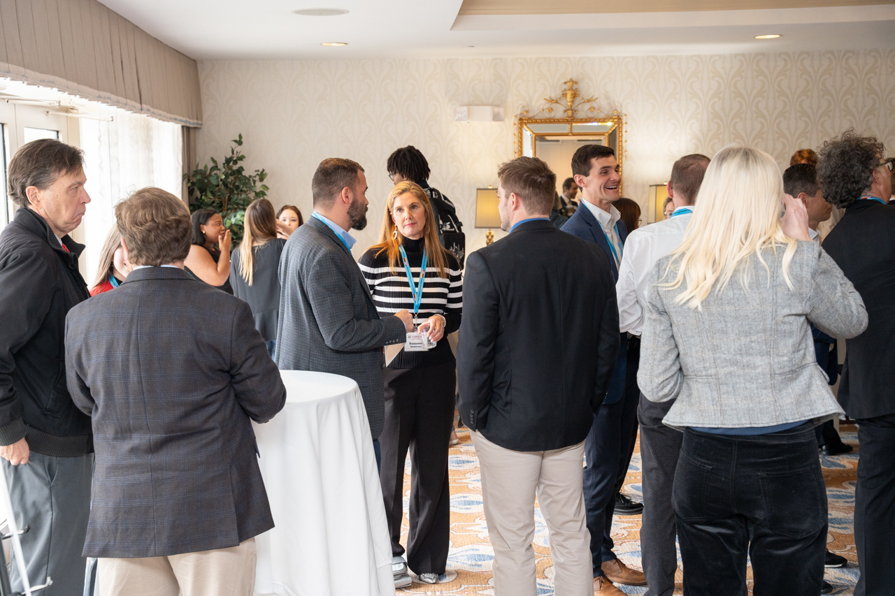
[[(584, 507), (591, 532), (593, 576), (603, 575), (603, 561), (616, 558), (612, 549), (612, 514), (620, 482), (630, 462), (636, 435), (638, 396), (626, 393), (616, 404), (601, 405), (584, 439)], [(632, 428), (634, 432), (632, 433)]]

